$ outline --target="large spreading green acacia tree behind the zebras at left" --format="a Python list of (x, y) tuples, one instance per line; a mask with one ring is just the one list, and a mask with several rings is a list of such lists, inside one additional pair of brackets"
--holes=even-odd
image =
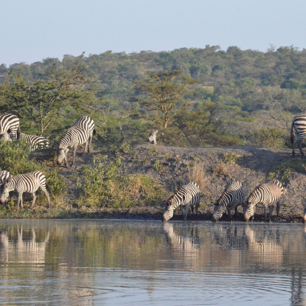
[(66, 69), (64, 62), (62, 69), (54, 66), (39, 80), (27, 81), (21, 71), (10, 72), (0, 88), (1, 112), (16, 114), (40, 135), (63, 117), (95, 115), (101, 99), (96, 98), (95, 81), (78, 69), (83, 56), (84, 52), (75, 67)]

